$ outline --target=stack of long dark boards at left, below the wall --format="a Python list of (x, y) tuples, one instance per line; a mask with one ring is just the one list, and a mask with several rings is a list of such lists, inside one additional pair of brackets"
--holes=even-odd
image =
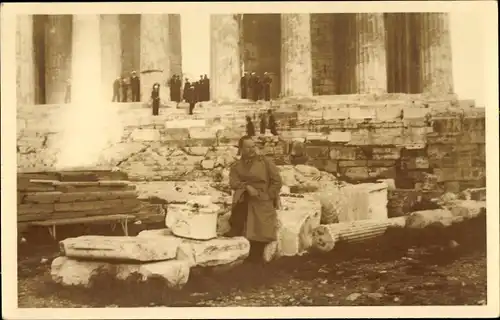
[(20, 226), (49, 219), (133, 215), (141, 207), (125, 173), (97, 169), (18, 173), (17, 201)]

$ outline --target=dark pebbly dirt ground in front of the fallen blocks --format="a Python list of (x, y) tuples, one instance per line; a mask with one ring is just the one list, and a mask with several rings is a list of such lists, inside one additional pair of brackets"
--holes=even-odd
[(192, 272), (179, 291), (109, 279), (89, 290), (64, 288), (49, 274), (57, 245), (24, 245), (19, 307), (481, 305), (485, 225), (481, 218), (446, 229), (399, 230), (328, 254), (244, 263), (218, 274)]

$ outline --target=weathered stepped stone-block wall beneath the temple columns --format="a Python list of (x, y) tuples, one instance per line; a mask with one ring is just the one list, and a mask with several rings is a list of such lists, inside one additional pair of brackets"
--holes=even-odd
[[(261, 151), (290, 164), (292, 144), (302, 141), (308, 164), (351, 182), (395, 178), (398, 188), (418, 189), (435, 175), (443, 191), (484, 186), (484, 109), (471, 101), (416, 99), (283, 102), (275, 110), (280, 138), (259, 138)], [(236, 158), (244, 116), (258, 128), (258, 113), (268, 108), (205, 103), (192, 117), (175, 108), (153, 117), (139, 104), (109, 107), (117, 108), (119, 120), (110, 125), (122, 126), (123, 134), (99, 164), (119, 166), (131, 180), (212, 180)], [(53, 166), (63, 111), (55, 105), (19, 111), (19, 169)]]

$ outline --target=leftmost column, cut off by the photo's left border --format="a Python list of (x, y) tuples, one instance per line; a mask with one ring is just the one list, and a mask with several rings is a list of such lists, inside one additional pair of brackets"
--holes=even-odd
[(16, 22), (16, 96), (17, 105), (35, 103), (35, 57), (33, 16), (18, 15)]

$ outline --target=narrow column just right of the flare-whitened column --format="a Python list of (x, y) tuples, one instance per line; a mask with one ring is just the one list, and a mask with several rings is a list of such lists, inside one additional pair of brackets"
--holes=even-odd
[(117, 14), (101, 15), (102, 94), (105, 100), (113, 97), (113, 82), (122, 72), (122, 46), (120, 17)]

